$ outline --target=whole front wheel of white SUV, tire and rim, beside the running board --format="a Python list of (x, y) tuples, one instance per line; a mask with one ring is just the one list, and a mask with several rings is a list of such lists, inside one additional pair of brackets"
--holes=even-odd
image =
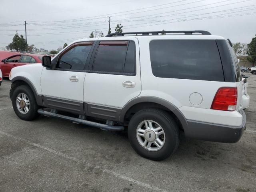
[(30, 121), (39, 116), (38, 105), (29, 86), (22, 85), (15, 88), (12, 94), (12, 107), (22, 120)]

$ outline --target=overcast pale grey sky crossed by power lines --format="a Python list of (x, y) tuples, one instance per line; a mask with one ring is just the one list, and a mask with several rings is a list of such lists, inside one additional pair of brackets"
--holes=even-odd
[(207, 30), (232, 42), (250, 43), (256, 34), (256, 0), (3, 0), (0, 49), (16, 30), (36, 48), (56, 50), (94, 30), (123, 32)]

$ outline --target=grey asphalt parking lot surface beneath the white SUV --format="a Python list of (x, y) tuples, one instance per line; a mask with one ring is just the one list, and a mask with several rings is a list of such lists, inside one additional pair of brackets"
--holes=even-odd
[[(246, 73), (247, 74), (247, 73)], [(256, 75), (241, 140), (224, 144), (181, 136), (161, 162), (140, 157), (126, 133), (56, 118), (20, 120), (0, 86), (0, 191), (256, 191)]]

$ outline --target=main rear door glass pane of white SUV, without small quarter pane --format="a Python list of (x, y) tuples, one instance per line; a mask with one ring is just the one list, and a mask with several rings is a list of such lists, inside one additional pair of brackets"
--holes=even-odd
[(123, 72), (127, 46), (99, 45), (93, 70), (102, 72)]

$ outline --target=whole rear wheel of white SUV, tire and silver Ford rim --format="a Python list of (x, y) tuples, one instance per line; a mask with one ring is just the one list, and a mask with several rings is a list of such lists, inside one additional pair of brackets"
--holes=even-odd
[(164, 160), (179, 145), (179, 132), (175, 120), (158, 109), (140, 110), (129, 122), (128, 137), (134, 150), (150, 160)]

